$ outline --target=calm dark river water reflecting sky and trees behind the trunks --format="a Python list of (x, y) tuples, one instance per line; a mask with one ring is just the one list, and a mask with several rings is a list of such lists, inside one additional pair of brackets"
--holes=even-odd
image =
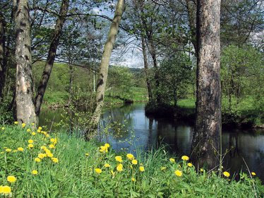
[[(145, 104), (136, 103), (123, 107), (113, 107), (104, 111), (102, 128), (109, 123), (122, 123), (121, 130), (114, 131), (100, 139), (108, 141), (117, 151), (126, 149), (134, 153), (136, 148), (148, 149), (152, 146), (167, 144), (167, 151), (177, 155), (189, 155), (193, 126), (175, 120), (153, 119), (145, 116)], [(50, 126), (48, 120), (59, 122), (62, 110), (42, 110), (40, 125)], [(114, 124), (116, 125), (116, 124)], [(120, 128), (120, 126), (119, 126)], [(256, 172), (264, 182), (264, 132), (241, 129), (223, 129), (222, 150), (224, 170), (231, 173)], [(244, 158), (244, 160), (243, 160)], [(244, 163), (246, 161), (246, 164)]]

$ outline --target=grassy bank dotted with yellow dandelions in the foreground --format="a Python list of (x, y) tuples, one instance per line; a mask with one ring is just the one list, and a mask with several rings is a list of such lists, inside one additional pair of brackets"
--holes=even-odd
[(134, 158), (115, 153), (108, 144), (63, 132), (48, 134), (31, 126), (2, 126), (0, 134), (0, 192), (6, 192), (6, 197), (264, 195), (253, 175), (241, 173), (242, 179), (236, 182), (227, 172), (196, 173), (188, 157), (168, 156), (162, 148)]

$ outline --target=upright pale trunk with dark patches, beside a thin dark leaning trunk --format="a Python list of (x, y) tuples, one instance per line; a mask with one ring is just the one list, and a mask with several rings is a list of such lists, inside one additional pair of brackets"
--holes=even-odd
[(16, 118), (18, 122), (36, 122), (33, 103), (30, 14), (28, 0), (16, 6)]

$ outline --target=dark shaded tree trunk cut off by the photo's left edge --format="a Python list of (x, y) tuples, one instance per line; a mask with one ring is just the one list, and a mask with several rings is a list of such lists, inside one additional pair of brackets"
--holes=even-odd
[(6, 64), (5, 64), (5, 21), (4, 16), (0, 11), (0, 102), (3, 99), (4, 83), (5, 83), (5, 73), (6, 73)]

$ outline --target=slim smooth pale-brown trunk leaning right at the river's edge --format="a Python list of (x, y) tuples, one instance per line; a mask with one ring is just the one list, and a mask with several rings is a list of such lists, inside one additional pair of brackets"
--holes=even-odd
[(102, 54), (99, 76), (97, 80), (96, 107), (92, 115), (91, 131), (86, 132), (87, 137), (90, 135), (91, 132), (94, 132), (94, 130), (97, 129), (97, 124), (99, 123), (100, 120), (102, 106), (104, 105), (104, 91), (105, 91), (105, 86), (107, 84), (107, 74), (108, 74), (110, 56), (114, 47), (114, 42), (116, 41), (116, 35), (118, 33), (119, 23), (124, 13), (124, 7), (125, 7), (125, 1), (119, 0), (117, 2), (116, 11), (114, 13), (114, 19), (111, 23), (107, 42), (104, 45), (104, 52)]

